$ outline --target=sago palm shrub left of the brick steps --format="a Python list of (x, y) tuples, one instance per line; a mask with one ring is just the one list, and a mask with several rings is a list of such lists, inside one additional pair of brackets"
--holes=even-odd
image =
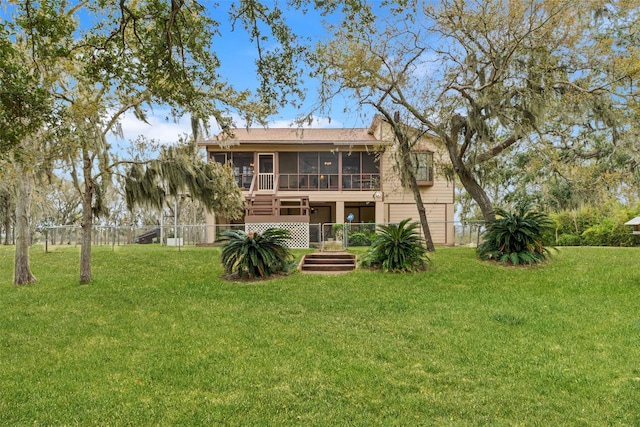
[(291, 238), (288, 230), (270, 228), (263, 233), (245, 233), (241, 230), (225, 230), (222, 247), (222, 265), (227, 274), (238, 277), (266, 278), (285, 272), (293, 260), (286, 241)]

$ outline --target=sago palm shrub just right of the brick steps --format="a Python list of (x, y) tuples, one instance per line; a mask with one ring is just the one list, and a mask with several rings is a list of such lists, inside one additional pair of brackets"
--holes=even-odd
[(362, 264), (383, 271), (414, 272), (424, 270), (429, 258), (422, 238), (416, 232), (419, 224), (410, 219), (399, 224), (380, 225)]

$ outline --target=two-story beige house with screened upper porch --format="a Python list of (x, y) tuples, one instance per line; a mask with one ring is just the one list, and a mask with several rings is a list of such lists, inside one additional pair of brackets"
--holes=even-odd
[[(400, 184), (392, 142), (390, 127), (376, 117), (369, 128), (237, 129), (231, 138), (218, 136), (200, 146), (209, 161), (231, 165), (246, 198), (240, 223), (302, 224), (302, 230), (348, 220), (419, 221), (413, 194)], [(435, 163), (448, 161), (445, 148), (430, 136), (416, 146), (418, 184), (433, 241), (453, 245), (454, 183), (434, 173)], [(213, 215), (207, 222), (229, 223)]]

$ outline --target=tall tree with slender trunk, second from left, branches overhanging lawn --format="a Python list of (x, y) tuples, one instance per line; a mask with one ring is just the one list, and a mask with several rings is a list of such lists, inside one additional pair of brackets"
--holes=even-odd
[[(154, 105), (168, 105), (176, 118), (191, 115), (198, 139), (210, 118), (225, 130), (233, 125), (233, 111), (248, 123), (262, 122), (302, 95), (295, 65), (301, 50), (277, 6), (242, 1), (229, 12), (234, 24), (250, 29), (257, 46), (255, 97), (219, 75), (213, 51), (219, 22), (195, 0), (15, 1), (12, 29), (27, 40), (30, 60), (57, 66), (53, 89), (41, 87), (65, 107), (62, 125), (68, 132), (57, 142), (82, 198), (81, 283), (91, 280), (93, 218), (106, 213), (102, 196), (117, 164), (106, 136), (118, 134), (126, 111), (145, 120)], [(80, 27), (80, 16), (95, 25)], [(266, 49), (272, 39), (278, 48)]]

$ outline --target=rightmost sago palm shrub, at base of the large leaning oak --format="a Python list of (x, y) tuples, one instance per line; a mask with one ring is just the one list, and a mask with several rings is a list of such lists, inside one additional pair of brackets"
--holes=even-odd
[(496, 216), (478, 245), (481, 259), (518, 265), (537, 264), (547, 258), (549, 249), (543, 244), (543, 235), (553, 224), (545, 214), (522, 207), (516, 212), (497, 209)]

